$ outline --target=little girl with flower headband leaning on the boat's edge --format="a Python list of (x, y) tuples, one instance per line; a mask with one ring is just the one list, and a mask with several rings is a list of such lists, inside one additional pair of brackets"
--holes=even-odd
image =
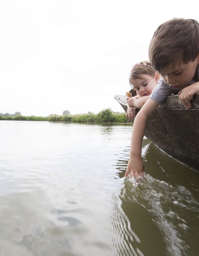
[(136, 96), (127, 97), (126, 118), (134, 119), (135, 109), (132, 108), (141, 108), (144, 105), (153, 88), (157, 85), (159, 78), (160, 75), (151, 67), (148, 61), (135, 64), (129, 75), (129, 83), (135, 90)]

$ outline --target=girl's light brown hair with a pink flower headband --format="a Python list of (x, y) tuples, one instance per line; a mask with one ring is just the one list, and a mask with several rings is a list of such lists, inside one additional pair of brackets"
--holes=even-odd
[[(131, 83), (131, 79), (144, 79), (143, 75), (154, 76), (156, 71), (151, 67), (149, 61), (141, 61), (133, 66), (129, 75), (129, 83), (131, 87), (134, 89), (133, 84)], [(135, 89), (134, 89), (135, 90)], [(135, 90), (136, 95), (136, 90)]]

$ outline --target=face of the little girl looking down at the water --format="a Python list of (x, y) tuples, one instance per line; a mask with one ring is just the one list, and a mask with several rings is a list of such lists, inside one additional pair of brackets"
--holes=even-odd
[(159, 74), (155, 74), (154, 77), (150, 75), (142, 75), (141, 78), (131, 78), (130, 82), (135, 88), (137, 94), (142, 96), (148, 96), (151, 94), (153, 88), (157, 85), (159, 80)]

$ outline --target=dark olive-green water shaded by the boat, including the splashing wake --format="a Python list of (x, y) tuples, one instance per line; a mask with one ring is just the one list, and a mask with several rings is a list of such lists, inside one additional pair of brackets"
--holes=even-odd
[[(120, 178), (126, 171), (128, 149), (121, 156), (116, 165)], [(198, 173), (147, 139), (142, 157), (146, 171), (143, 184), (133, 177), (124, 178), (113, 197), (115, 214), (110, 218), (115, 232), (122, 230), (125, 255), (197, 255)], [(193, 176), (196, 180), (190, 180)]]

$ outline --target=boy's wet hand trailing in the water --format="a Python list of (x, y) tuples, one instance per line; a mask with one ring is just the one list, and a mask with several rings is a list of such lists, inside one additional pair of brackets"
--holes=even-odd
[(124, 177), (129, 173), (135, 178), (138, 176), (144, 176), (144, 164), (141, 156), (130, 156)]

